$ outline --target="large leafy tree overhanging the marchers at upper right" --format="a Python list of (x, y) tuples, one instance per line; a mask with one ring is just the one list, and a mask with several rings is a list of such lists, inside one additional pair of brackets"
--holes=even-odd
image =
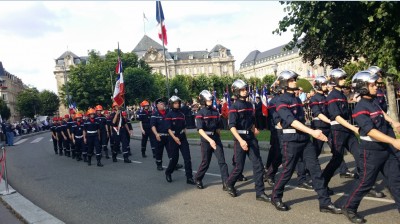
[[(297, 46), (303, 61), (334, 68), (363, 58), (398, 75), (400, 70), (399, 2), (282, 2), (287, 15), (273, 32), (288, 29), (293, 39), (287, 49)], [(302, 37), (302, 40), (299, 39)], [(396, 105), (392, 78), (387, 80), (389, 105)], [(390, 107), (398, 120), (396, 106)]]

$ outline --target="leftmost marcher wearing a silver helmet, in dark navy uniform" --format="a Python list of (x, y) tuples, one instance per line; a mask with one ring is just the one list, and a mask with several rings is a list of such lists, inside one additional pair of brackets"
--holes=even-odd
[(186, 183), (195, 184), (192, 173), (192, 160), (190, 157), (189, 142), (186, 138), (186, 119), (181, 111), (181, 99), (172, 96), (169, 100), (170, 111), (166, 115), (166, 128), (169, 134), (170, 160), (165, 176), (168, 182), (172, 182), (171, 174), (174, 172), (181, 151), (186, 173)]

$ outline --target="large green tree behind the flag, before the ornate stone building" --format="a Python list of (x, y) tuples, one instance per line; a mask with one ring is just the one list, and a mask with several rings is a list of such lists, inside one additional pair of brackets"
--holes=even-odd
[[(134, 53), (120, 51), (119, 55), (124, 69), (124, 79), (126, 79), (124, 80), (126, 82), (126, 104), (137, 103), (141, 98), (147, 98), (143, 94), (137, 96), (135, 94), (137, 91), (142, 93), (144, 90), (154, 86), (150, 76), (151, 68), (144, 61), (139, 61)], [(101, 56), (95, 50), (90, 51), (88, 63), (82, 63), (71, 68), (68, 83), (62, 87), (60, 93), (61, 102), (64, 105), (68, 104), (66, 97), (68, 89), (70, 102), (76, 102), (79, 109), (86, 110), (88, 107), (93, 107), (97, 104), (106, 108), (111, 107), (113, 88), (117, 78), (115, 74), (117, 61), (118, 50), (108, 51), (104, 56)], [(136, 76), (137, 78), (140, 77), (140, 83), (143, 84), (140, 87), (135, 83)], [(146, 81), (146, 79), (149, 80)]]

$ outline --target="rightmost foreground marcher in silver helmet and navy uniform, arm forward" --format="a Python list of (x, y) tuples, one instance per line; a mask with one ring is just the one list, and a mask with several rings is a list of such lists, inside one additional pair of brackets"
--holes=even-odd
[[(358, 215), (357, 209), (362, 198), (372, 189), (378, 173), (388, 179), (389, 189), (398, 200), (400, 195), (399, 162), (390, 149), (400, 150), (400, 139), (393, 135), (389, 124), (398, 131), (400, 124), (394, 122), (375, 103), (377, 80), (379, 76), (369, 71), (361, 71), (353, 76), (352, 86), (361, 95), (353, 111), (353, 118), (360, 130), (360, 178), (355, 182), (353, 190), (344, 204), (345, 216), (353, 223), (365, 223), (366, 220)], [(397, 164), (397, 166), (392, 166)], [(398, 202), (398, 201), (397, 201)]]

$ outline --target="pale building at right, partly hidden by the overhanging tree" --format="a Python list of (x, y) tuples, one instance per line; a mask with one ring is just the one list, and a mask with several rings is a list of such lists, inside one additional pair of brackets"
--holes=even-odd
[(284, 47), (285, 45), (282, 45), (264, 52), (259, 50), (250, 52), (240, 64), (239, 73), (246, 78), (260, 79), (265, 75), (279, 75), (283, 70), (293, 70), (306, 79), (329, 74), (331, 68), (319, 66), (319, 61), (315, 61), (314, 66), (304, 63), (297, 47), (289, 51), (285, 51)]

